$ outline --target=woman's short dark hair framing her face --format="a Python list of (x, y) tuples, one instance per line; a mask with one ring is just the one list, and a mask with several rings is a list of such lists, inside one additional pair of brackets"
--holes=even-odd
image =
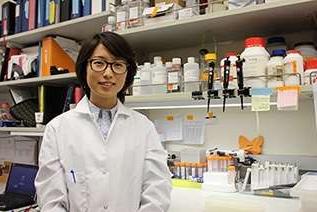
[(137, 65), (132, 48), (122, 36), (113, 32), (102, 32), (86, 40), (79, 51), (76, 61), (77, 79), (79, 80), (87, 97), (90, 98), (90, 88), (87, 84), (87, 63), (88, 59), (90, 59), (99, 44), (104, 45), (113, 56), (124, 59), (128, 63), (125, 84), (117, 94), (119, 100), (124, 103), (125, 91), (133, 84)]

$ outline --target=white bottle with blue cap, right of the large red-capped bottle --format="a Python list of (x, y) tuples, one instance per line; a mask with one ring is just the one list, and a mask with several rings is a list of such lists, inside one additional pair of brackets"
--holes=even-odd
[(285, 49), (275, 49), (267, 63), (267, 87), (275, 88), (284, 85)]

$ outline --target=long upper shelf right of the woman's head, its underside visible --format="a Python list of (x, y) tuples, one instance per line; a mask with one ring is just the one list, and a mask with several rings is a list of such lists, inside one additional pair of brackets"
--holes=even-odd
[(316, 0), (280, 0), (120, 32), (134, 48), (162, 51), (316, 27)]

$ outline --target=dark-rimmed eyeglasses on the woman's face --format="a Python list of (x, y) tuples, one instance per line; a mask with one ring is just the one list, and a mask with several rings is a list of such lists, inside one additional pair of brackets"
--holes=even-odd
[(102, 59), (90, 59), (88, 62), (91, 70), (95, 72), (104, 72), (108, 68), (108, 65), (110, 65), (110, 68), (114, 73), (124, 74), (127, 71), (128, 66), (128, 64), (122, 60), (110, 63)]

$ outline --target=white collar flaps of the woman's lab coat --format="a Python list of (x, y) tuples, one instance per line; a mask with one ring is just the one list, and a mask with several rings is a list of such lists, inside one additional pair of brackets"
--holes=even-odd
[[(76, 108), (74, 109), (76, 112), (79, 113), (86, 113), (86, 114), (91, 114), (93, 111), (90, 109), (90, 105), (93, 105), (90, 103), (89, 99), (85, 95), (77, 104)], [(93, 105), (95, 106), (95, 105)], [(98, 108), (97, 106), (95, 106)], [(93, 108), (93, 107), (92, 107)], [(100, 108), (98, 108), (100, 110)], [(94, 110), (94, 109), (93, 109)], [(98, 111), (99, 112), (99, 111)], [(114, 113), (113, 113), (114, 112)], [(131, 116), (132, 110), (124, 106), (120, 100), (118, 99), (117, 105), (111, 109), (111, 114), (114, 117), (115, 113), (118, 113), (118, 115), (126, 115), (126, 116)]]

